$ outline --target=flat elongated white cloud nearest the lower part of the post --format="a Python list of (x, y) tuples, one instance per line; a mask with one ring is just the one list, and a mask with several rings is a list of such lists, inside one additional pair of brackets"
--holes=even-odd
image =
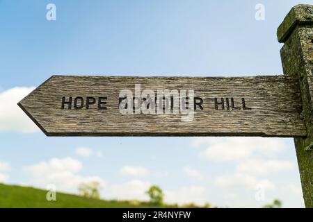
[(237, 165), (236, 171), (250, 175), (266, 175), (294, 169), (294, 163), (283, 160), (247, 160)]

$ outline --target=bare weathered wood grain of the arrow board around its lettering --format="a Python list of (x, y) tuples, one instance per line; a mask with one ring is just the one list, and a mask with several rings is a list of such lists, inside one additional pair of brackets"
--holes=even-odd
[[(203, 99), (193, 121), (182, 114), (120, 114), (122, 89), (194, 89)], [(61, 109), (63, 96), (105, 96), (107, 110)], [(214, 98), (244, 98), (251, 110), (215, 110)], [(19, 102), (48, 136), (262, 136), (305, 137), (298, 80), (284, 76), (126, 77), (52, 76)]]

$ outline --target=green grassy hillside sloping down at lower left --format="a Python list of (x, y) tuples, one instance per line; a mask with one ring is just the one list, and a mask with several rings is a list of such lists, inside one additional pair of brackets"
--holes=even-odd
[(0, 207), (156, 207), (140, 201), (95, 200), (72, 194), (56, 194), (56, 201), (47, 201), (47, 191), (32, 187), (0, 184)]

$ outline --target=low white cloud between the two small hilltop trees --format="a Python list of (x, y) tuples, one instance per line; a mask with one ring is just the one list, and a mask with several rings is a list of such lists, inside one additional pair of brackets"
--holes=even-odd
[(150, 182), (131, 180), (120, 185), (107, 186), (104, 189), (104, 194), (105, 198), (117, 200), (149, 200), (145, 191), (150, 186)]

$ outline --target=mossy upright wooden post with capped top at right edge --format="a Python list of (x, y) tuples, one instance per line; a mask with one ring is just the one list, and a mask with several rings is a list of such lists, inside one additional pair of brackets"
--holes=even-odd
[(296, 76), (300, 85), (307, 128), (306, 138), (295, 138), (305, 207), (313, 207), (313, 6), (291, 9), (278, 28), (278, 41), (284, 75)]

